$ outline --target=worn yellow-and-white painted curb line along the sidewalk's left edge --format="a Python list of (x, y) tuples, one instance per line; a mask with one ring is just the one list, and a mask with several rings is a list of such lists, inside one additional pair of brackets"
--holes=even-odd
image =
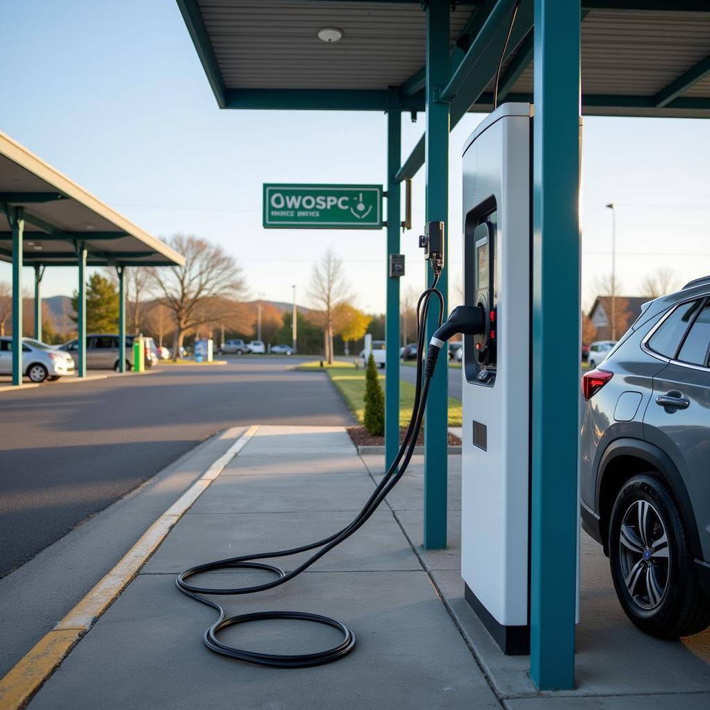
[(70, 651), (111, 606), (116, 597), (140, 572), (148, 557), (165, 539), (182, 515), (200, 498), (209, 484), (222, 473), (231, 459), (239, 454), (256, 434), (251, 426), (222, 454), (209, 469), (173, 503), (158, 520), (143, 533), (140, 540), (126, 552), (87, 596), (41, 638), (26, 655), (0, 680), (0, 710), (20, 710), (43, 683), (59, 667)]

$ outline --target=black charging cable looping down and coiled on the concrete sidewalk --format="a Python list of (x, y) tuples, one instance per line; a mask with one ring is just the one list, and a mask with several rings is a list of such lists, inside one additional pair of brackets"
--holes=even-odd
[[(326, 552), (329, 552), (329, 550), (332, 550), (333, 547), (336, 547), (336, 545), (344, 542), (344, 540), (350, 537), (350, 535), (356, 532), (356, 530), (359, 530), (359, 528), (361, 528), (361, 526), (364, 525), (368, 518), (370, 518), (370, 516), (375, 512), (387, 494), (402, 478), (417, 444), (417, 438), (419, 437), (419, 432), (422, 426), (422, 418), (424, 417), (427, 397), (429, 395), (431, 374), (429, 372), (425, 372), (425, 376), (422, 378), (422, 370), (424, 370), (424, 360), (422, 359), (422, 354), (425, 351), (425, 330), (429, 311), (429, 302), (432, 295), (436, 295), (439, 302), (439, 326), (441, 326), (444, 319), (444, 297), (436, 288), (438, 280), (439, 273), (435, 273), (435, 278), (431, 287), (427, 288), (427, 290), (422, 293), (419, 301), (417, 302), (417, 378), (414, 406), (409, 426), (395, 460), (392, 462), (391, 466), (386, 471), (386, 474), (383, 476), (383, 479), (376, 486), (372, 495), (368, 498), (368, 501), (365, 503), (362, 510), (360, 510), (360, 512), (356, 515), (354, 520), (352, 520), (349, 525), (346, 525), (345, 528), (335, 532), (333, 535), (325, 537), (323, 540), (317, 540), (317, 542), (311, 542), (308, 545), (293, 547), (290, 550), (276, 550), (275, 552), (261, 552), (253, 555), (240, 555), (239, 557), (218, 559), (215, 562), (197, 564), (195, 567), (190, 567), (190, 569), (186, 569), (185, 572), (178, 574), (177, 579), (175, 579), (175, 584), (178, 585), (178, 589), (180, 589), (183, 594), (187, 594), (187, 596), (192, 597), (192, 599), (196, 599), (200, 603), (211, 606), (219, 614), (217, 621), (215, 621), (202, 636), (204, 645), (206, 645), (209, 650), (219, 653), (220, 655), (236, 658), (249, 663), (255, 663), (257, 665), (266, 665), (277, 668), (306, 668), (337, 660), (354, 648), (354, 633), (347, 626), (345, 626), (344, 623), (337, 621), (334, 618), (321, 616), (320, 614), (308, 613), (305, 611), (258, 611), (228, 617), (225, 615), (224, 608), (222, 608), (222, 606), (220, 606), (216, 601), (205, 599), (202, 595), (209, 594), (211, 596), (227, 596), (232, 594), (253, 594), (257, 591), (273, 589), (274, 587), (285, 584), (285, 582), (290, 579), (297, 577), (298, 574), (310, 567), (314, 562), (325, 555)], [(433, 371), (433, 368), (431, 369)], [(400, 463), (402, 464), (401, 466)], [(300, 552), (315, 550), (319, 547), (321, 548), (320, 550), (315, 552), (314, 555), (288, 573), (273, 564), (268, 564), (266, 562), (253, 562), (253, 560), (256, 559), (270, 559), (272, 557), (288, 557), (290, 555), (297, 555)], [(218, 569), (261, 569), (266, 570), (266, 572), (272, 572), (275, 574), (276, 579), (264, 584), (255, 584), (253, 586), (230, 589), (214, 589), (212, 587), (195, 586), (187, 583), (187, 579), (193, 577), (195, 574), (214, 572)], [(248, 623), (250, 621), (271, 621), (273, 619), (296, 619), (297, 621), (312, 621), (314, 623), (321, 623), (325, 626), (332, 626), (332, 628), (339, 630), (342, 633), (343, 638), (341, 643), (333, 646), (332, 648), (328, 648), (327, 650), (316, 653), (297, 654), (271, 654), (249, 651), (226, 645), (217, 638), (217, 634), (229, 626), (235, 626), (240, 623)]]

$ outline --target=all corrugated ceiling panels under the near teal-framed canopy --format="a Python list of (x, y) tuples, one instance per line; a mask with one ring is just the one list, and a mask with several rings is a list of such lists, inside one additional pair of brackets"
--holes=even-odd
[[(403, 84), (425, 63), (425, 13), (418, 1), (197, 3), (224, 86), (235, 92), (386, 89)], [(475, 11), (469, 4), (452, 12), (452, 46)], [(342, 40), (331, 45), (320, 41), (317, 30), (324, 26), (342, 29)], [(710, 12), (592, 9), (581, 25), (583, 111), (710, 116), (710, 103), (657, 108), (650, 101), (709, 55)], [(487, 93), (492, 89), (491, 80)], [(532, 62), (510, 94), (531, 92)], [(634, 105), (639, 97), (649, 100)], [(682, 97), (710, 99), (710, 77), (685, 89)], [(490, 99), (481, 97), (473, 110), (488, 110), (486, 102)]]

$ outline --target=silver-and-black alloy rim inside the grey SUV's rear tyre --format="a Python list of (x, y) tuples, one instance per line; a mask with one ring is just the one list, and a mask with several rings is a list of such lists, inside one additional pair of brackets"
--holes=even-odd
[(660, 606), (670, 581), (670, 547), (660, 513), (648, 501), (634, 501), (623, 516), (619, 560), (634, 603), (644, 611)]

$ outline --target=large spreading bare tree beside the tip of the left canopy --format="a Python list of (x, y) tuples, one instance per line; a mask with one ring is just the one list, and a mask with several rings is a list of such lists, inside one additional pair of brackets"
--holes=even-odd
[(218, 296), (226, 300), (243, 297), (246, 282), (234, 257), (221, 246), (185, 234), (175, 234), (167, 243), (185, 257), (185, 266), (151, 267), (149, 271), (163, 295), (160, 300), (173, 312), (173, 360), (177, 360), (185, 333), (209, 320), (204, 306)]

